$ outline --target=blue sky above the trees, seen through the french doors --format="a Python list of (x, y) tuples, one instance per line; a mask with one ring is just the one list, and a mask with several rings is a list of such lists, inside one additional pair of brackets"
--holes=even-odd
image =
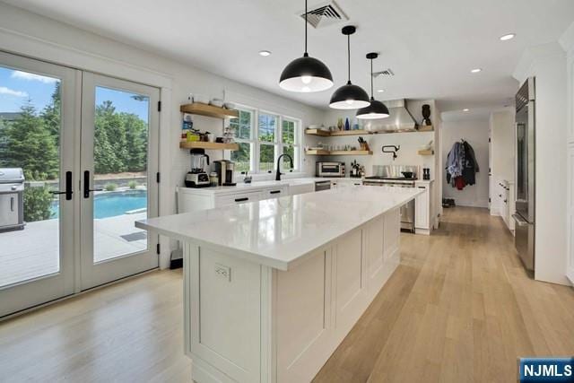
[[(39, 111), (48, 105), (59, 80), (0, 66), (0, 112), (18, 112), (30, 100)], [(133, 93), (98, 87), (96, 104), (112, 101), (118, 112), (135, 113), (147, 122), (148, 102), (132, 99)]]

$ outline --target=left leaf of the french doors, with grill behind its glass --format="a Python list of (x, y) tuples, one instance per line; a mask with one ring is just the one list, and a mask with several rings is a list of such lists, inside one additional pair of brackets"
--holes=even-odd
[(22, 196), (25, 222), (0, 230), (0, 317), (74, 293), (81, 75), (0, 52), (0, 170), (25, 176), (22, 195), (0, 195), (4, 218)]

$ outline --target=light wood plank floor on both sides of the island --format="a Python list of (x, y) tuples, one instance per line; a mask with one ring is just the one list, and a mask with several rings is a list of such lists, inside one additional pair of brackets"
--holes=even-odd
[[(486, 210), (404, 234), (402, 265), (316, 382), (510, 382), (518, 356), (574, 354), (574, 290), (527, 277)], [(0, 322), (0, 381), (188, 382), (181, 272)]]

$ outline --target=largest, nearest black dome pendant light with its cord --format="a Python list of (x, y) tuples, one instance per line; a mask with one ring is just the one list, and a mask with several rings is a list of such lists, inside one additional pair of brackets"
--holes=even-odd
[(285, 91), (326, 91), (333, 86), (333, 75), (317, 58), (307, 53), (307, 0), (305, 0), (305, 53), (285, 66), (279, 86)]

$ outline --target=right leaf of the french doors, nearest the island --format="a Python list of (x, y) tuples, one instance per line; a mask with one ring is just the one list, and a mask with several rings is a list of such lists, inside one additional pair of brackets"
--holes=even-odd
[(135, 221), (158, 213), (160, 91), (84, 73), (82, 290), (158, 267), (157, 236)]

